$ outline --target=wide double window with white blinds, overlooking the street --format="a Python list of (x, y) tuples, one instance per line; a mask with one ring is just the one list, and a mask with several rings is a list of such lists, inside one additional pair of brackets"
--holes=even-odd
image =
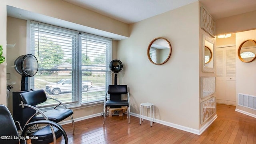
[(39, 66), (30, 88), (44, 89), (70, 106), (103, 102), (112, 80), (111, 39), (32, 21), (30, 53)]

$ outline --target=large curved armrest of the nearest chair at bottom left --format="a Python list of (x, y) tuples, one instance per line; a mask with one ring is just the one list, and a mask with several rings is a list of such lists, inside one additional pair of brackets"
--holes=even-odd
[[(52, 126), (55, 126), (56, 128), (58, 128), (58, 130), (60, 130), (60, 132), (62, 133), (63, 137), (64, 137), (64, 140), (65, 140), (65, 144), (68, 144), (68, 136), (65, 132), (65, 130), (59, 125), (57, 124), (56, 122), (52, 122), (52, 121), (49, 121), (49, 120), (38, 120), (38, 121), (35, 121), (35, 122), (30, 122), (28, 124), (26, 124), (24, 126), (24, 129), (22, 131), (22, 134), (21, 134), (21, 137), (25, 137), (26, 136), (26, 131), (28, 130), (28, 128), (30, 126), (33, 126), (35, 124), (49, 124), (50, 125), (50, 128), (52, 130), (52, 135), (53, 135), (53, 140), (54, 140), (54, 144), (56, 144), (56, 135), (54, 133), (54, 129), (52, 128)], [(26, 144), (26, 140), (20, 140), (20, 144)]]

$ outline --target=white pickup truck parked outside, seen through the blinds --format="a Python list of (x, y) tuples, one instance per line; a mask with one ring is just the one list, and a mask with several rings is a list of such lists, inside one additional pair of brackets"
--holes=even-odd
[[(87, 92), (89, 88), (92, 88), (92, 82), (89, 80), (82, 81), (82, 91)], [(56, 83), (46, 84), (46, 92), (58, 95), (62, 92), (71, 92), (72, 91), (72, 80), (71, 79), (61, 79)]]

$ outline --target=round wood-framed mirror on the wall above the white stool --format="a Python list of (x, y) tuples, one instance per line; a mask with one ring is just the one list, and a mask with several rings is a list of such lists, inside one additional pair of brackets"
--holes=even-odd
[(153, 64), (164, 64), (171, 56), (172, 47), (166, 38), (155, 38), (148, 45), (148, 59)]

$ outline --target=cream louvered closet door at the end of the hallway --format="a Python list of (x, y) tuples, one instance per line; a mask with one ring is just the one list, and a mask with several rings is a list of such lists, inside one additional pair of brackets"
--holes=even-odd
[(236, 47), (216, 49), (216, 102), (236, 105)]

